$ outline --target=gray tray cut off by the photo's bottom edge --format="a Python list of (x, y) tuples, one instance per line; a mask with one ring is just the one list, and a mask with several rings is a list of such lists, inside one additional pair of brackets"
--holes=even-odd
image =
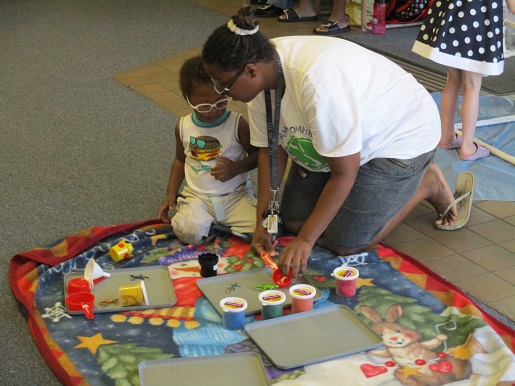
[(141, 386), (269, 386), (258, 353), (144, 361), (138, 365)]

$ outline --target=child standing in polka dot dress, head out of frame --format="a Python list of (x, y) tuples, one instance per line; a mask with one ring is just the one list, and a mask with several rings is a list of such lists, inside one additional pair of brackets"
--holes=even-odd
[[(514, 3), (515, 0), (506, 0), (511, 12)], [(488, 156), (488, 149), (473, 140), (482, 78), (499, 75), (504, 69), (502, 0), (436, 1), (418, 33), (413, 52), (447, 66), (438, 147), (460, 148), (462, 161)], [(462, 137), (459, 137), (454, 132), (454, 120), (461, 92)]]

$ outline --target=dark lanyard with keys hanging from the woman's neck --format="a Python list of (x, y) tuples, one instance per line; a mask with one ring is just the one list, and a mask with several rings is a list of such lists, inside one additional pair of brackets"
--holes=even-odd
[[(265, 109), (266, 109), (266, 129), (268, 136), (268, 156), (270, 159), (270, 190), (272, 192), (272, 200), (265, 213), (266, 216), (279, 216), (279, 202), (277, 201), (277, 193), (279, 186), (277, 184), (278, 169), (278, 147), (279, 147), (279, 120), (281, 118), (281, 100), (284, 91), (284, 76), (281, 66), (281, 60), (277, 62), (277, 81), (275, 86), (275, 111), (272, 119), (272, 98), (270, 90), (265, 90)], [(269, 227), (270, 229), (270, 227)]]

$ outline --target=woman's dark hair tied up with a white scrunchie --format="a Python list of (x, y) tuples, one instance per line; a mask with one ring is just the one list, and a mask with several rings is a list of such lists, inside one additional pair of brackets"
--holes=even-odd
[[(233, 32), (229, 28), (231, 21), (237, 31)], [(275, 47), (257, 31), (259, 22), (252, 7), (241, 8), (231, 17), (231, 21), (218, 27), (207, 39), (202, 50), (205, 63), (216, 64), (224, 71), (234, 71), (247, 63), (269, 62), (274, 59)], [(252, 32), (253, 30), (256, 32)]]

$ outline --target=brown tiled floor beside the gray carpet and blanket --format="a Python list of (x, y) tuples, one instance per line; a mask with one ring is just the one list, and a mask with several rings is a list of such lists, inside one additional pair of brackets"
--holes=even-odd
[[(227, 15), (239, 6), (226, 0), (196, 2)], [(261, 29), (268, 37), (311, 34), (318, 24), (261, 19)], [(115, 78), (176, 116), (188, 114), (191, 110), (179, 91), (178, 70), (184, 59), (200, 53), (200, 49), (117, 74)], [(244, 104), (233, 103), (231, 108), (246, 114)], [(434, 219), (432, 207), (420, 204), (385, 242), (515, 320), (515, 202), (475, 202), (467, 226), (454, 232), (435, 229)]]

